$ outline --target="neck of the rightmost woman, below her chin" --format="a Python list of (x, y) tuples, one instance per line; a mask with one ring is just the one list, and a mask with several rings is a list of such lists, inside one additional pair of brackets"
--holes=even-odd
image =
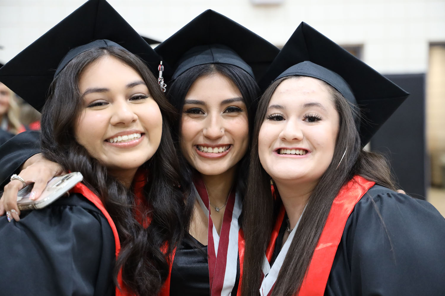
[(275, 185), (283, 201), (284, 209), (286, 209), (290, 227), (294, 229), (316, 183), (295, 183), (294, 181), (275, 180)]

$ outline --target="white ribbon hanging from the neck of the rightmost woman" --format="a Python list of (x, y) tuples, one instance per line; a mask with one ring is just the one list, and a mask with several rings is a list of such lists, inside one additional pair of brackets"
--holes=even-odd
[[(289, 234), (289, 237), (287, 237), (287, 240), (284, 243), (283, 248), (281, 248), (281, 251), (279, 252), (278, 257), (275, 259), (274, 264), (272, 264), (272, 267), (270, 266), (266, 255), (264, 255), (264, 259), (263, 259), (264, 278), (263, 278), (263, 282), (261, 283), (261, 287), (259, 288), (259, 293), (261, 296), (267, 296), (267, 294), (269, 294), (272, 287), (274, 286), (274, 284), (278, 278), (278, 273), (281, 269), (281, 266), (283, 266), (284, 258), (286, 257), (287, 251), (289, 250), (289, 247), (291, 246), (292, 240), (295, 236), (295, 229), (297, 229), (297, 227), (300, 223), (301, 217), (303, 217), (303, 213), (304, 213), (305, 209), (306, 209), (306, 206), (304, 207), (303, 212), (301, 213), (294, 229)], [(280, 243), (279, 241), (275, 242), (275, 244), (279, 244), (279, 243)], [(265, 272), (265, 271), (267, 271), (267, 272)]]

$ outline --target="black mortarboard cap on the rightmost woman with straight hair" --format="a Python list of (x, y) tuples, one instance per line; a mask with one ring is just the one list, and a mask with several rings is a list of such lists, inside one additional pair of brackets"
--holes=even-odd
[(264, 90), (272, 81), (289, 75), (324, 80), (358, 104), (362, 146), (409, 95), (306, 23), (298, 26), (259, 85)]

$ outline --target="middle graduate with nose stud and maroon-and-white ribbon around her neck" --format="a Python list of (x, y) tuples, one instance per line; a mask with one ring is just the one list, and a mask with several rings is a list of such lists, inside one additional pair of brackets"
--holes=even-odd
[[(180, 114), (173, 126), (178, 150), (168, 148), (181, 152), (178, 182), (187, 193), (190, 224), (174, 246), (160, 295), (236, 295), (244, 242), (238, 218), (259, 96), (255, 78), (279, 50), (211, 10), (155, 50), (163, 57), (159, 70), (166, 83), (159, 82)], [(33, 178), (29, 170), (20, 175)]]

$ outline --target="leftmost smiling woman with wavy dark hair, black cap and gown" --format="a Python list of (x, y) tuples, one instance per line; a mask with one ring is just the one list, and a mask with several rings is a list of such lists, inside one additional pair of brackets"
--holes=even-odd
[(84, 178), (69, 197), (24, 211), (18, 222), (11, 219), (18, 209), (1, 217), (2, 294), (162, 288), (183, 235), (184, 197), (175, 185), (178, 158), (167, 149), (174, 108), (147, 67), (153, 60), (158, 55), (106, 1), (90, 0), (0, 69), (2, 81), (43, 106), (44, 157)]

